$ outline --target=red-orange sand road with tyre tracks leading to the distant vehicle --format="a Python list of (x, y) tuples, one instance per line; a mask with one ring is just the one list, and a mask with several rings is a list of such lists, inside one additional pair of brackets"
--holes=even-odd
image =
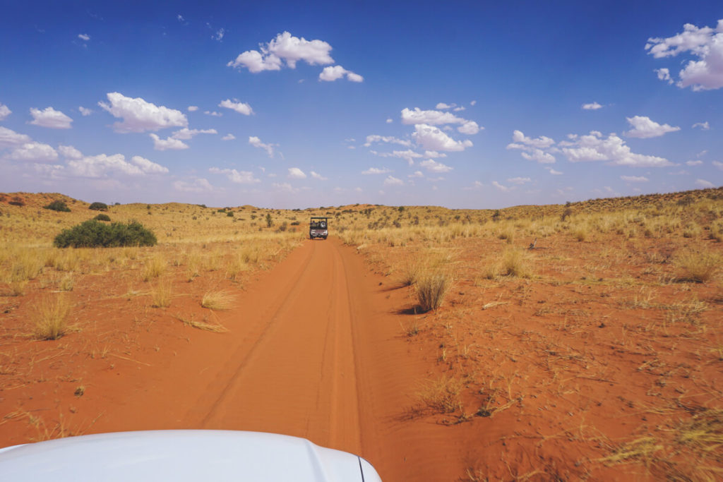
[(339, 241), (306, 241), (220, 315), (230, 333), (95, 381), (88, 433), (269, 431), (359, 454), (387, 481), (454, 480), (471, 433), (405, 416), (429, 361), (400, 328), (406, 290), (382, 280)]

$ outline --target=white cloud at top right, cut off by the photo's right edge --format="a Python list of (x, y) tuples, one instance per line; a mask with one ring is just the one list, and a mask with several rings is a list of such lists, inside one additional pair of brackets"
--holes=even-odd
[[(645, 49), (656, 59), (675, 57), (689, 52), (697, 60), (689, 60), (680, 70), (677, 86), (693, 90), (723, 87), (723, 19), (715, 30), (711, 27), (683, 25), (683, 32), (668, 38), (649, 38)], [(658, 78), (661, 74), (658, 72)]]

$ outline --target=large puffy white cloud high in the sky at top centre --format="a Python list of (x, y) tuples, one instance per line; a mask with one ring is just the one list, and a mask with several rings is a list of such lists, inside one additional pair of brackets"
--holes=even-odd
[(331, 46), (323, 40), (306, 40), (294, 37), (284, 32), (266, 44), (259, 44), (260, 51), (245, 51), (236, 59), (229, 61), (226, 66), (241, 69), (246, 67), (249, 72), (257, 73), (264, 70), (280, 70), (283, 61), (291, 69), (296, 68), (296, 62), (302, 60), (309, 65), (333, 64), (329, 52)]

